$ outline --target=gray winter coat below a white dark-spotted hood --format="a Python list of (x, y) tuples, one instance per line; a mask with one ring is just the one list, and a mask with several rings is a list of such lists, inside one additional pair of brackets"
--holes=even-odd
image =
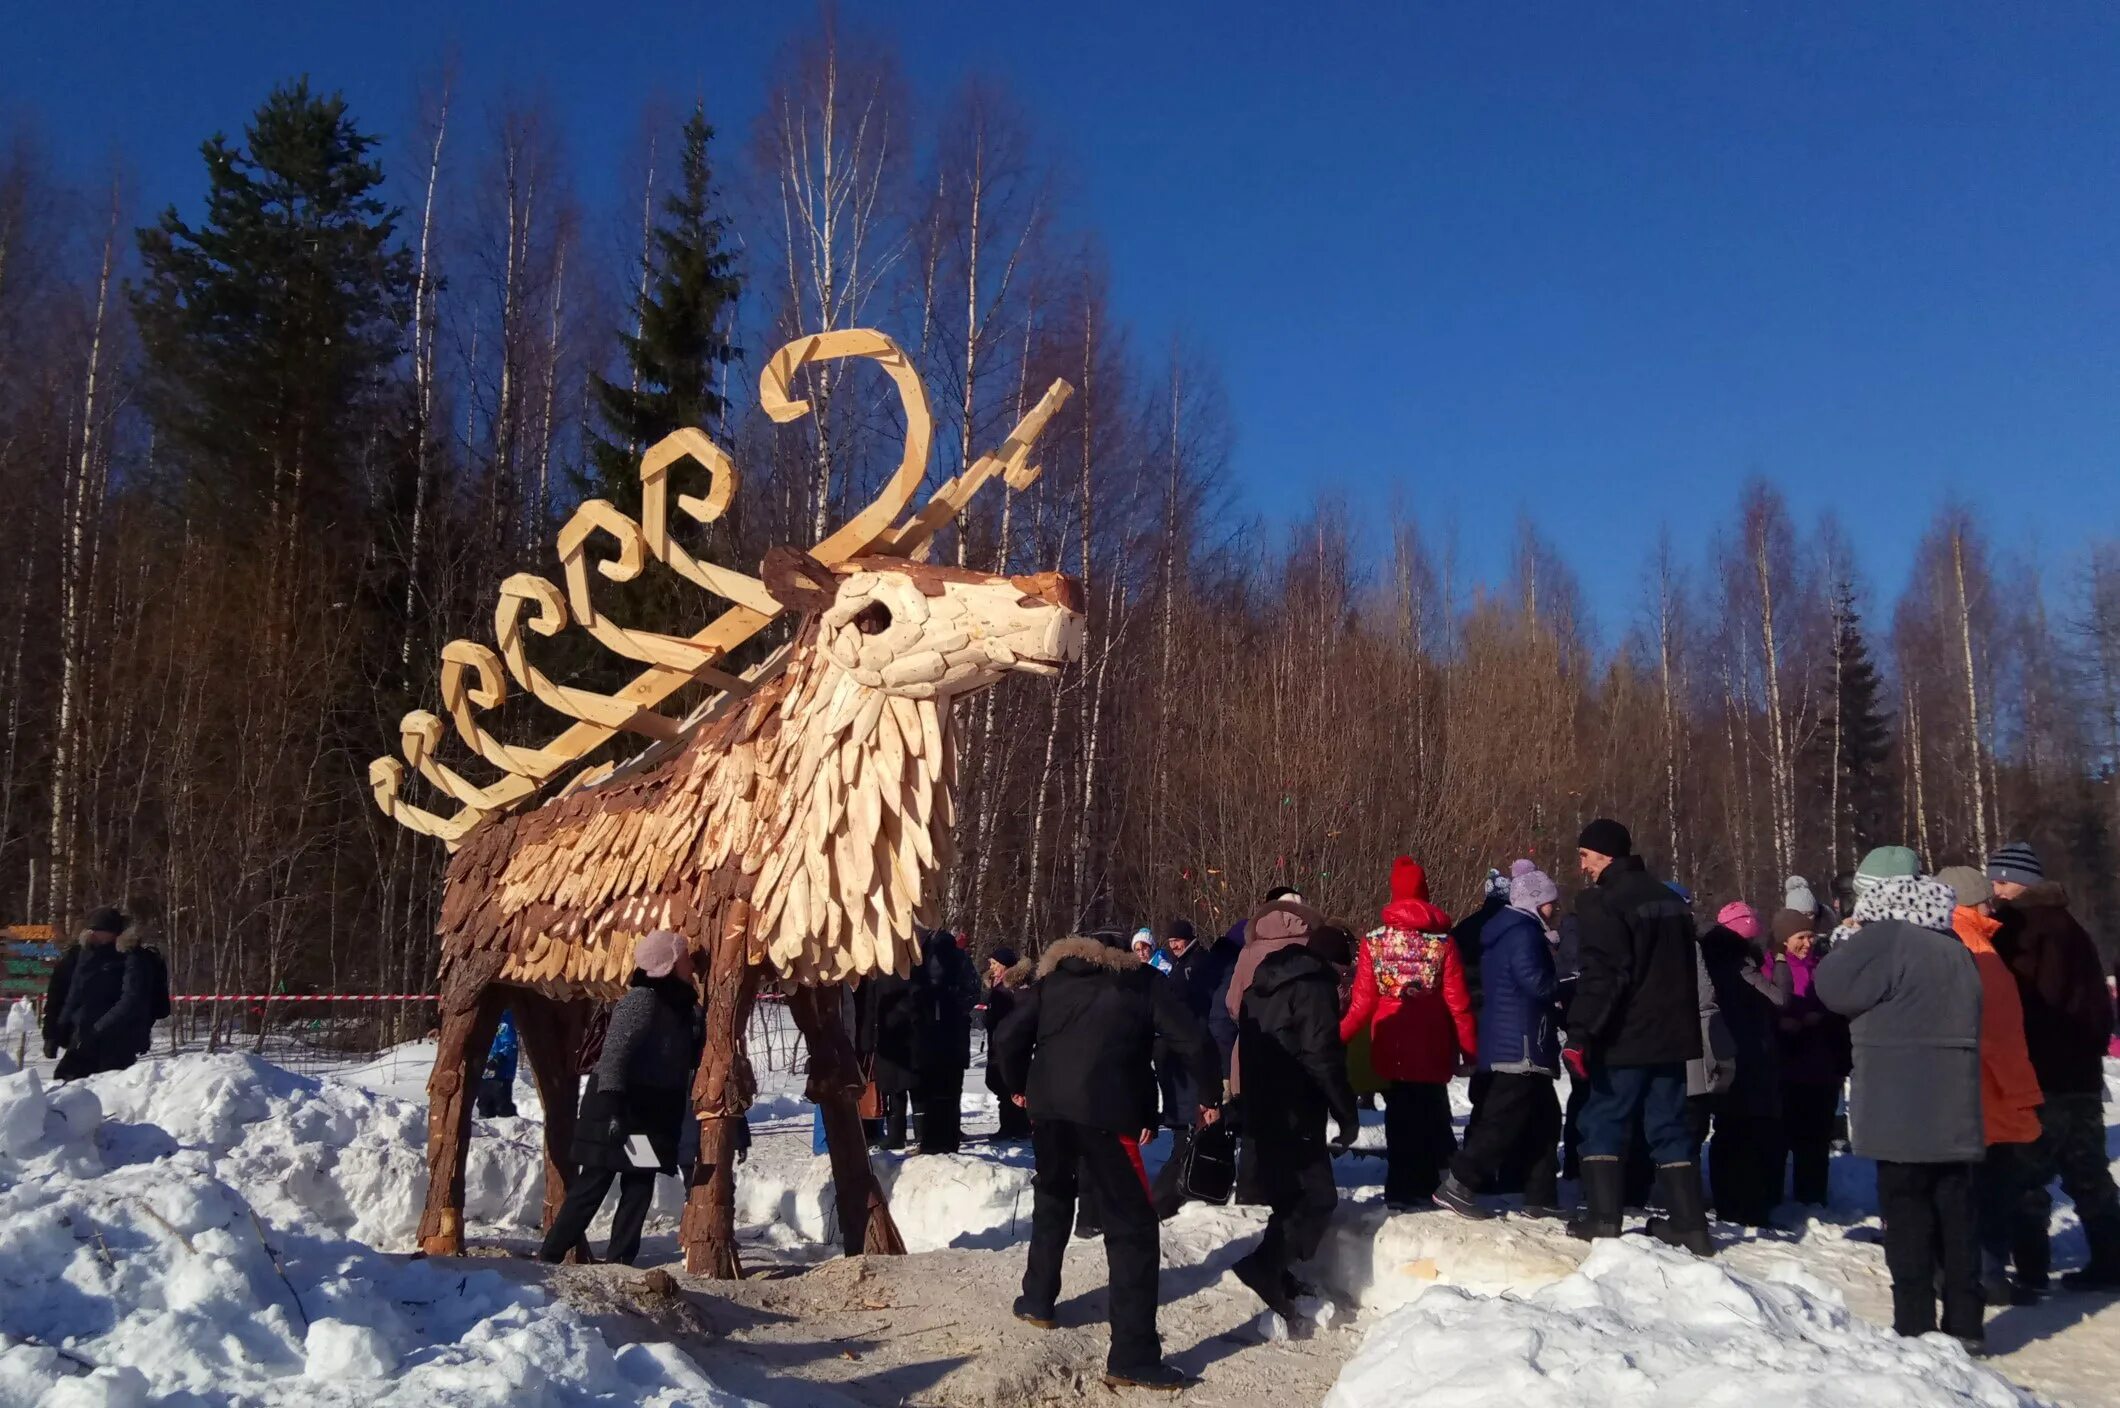
[(1900, 918), (1866, 922), (1825, 954), (1810, 990), (1851, 1018), (1855, 1154), (1893, 1164), (1986, 1154), (1980, 971), (1957, 937)]

